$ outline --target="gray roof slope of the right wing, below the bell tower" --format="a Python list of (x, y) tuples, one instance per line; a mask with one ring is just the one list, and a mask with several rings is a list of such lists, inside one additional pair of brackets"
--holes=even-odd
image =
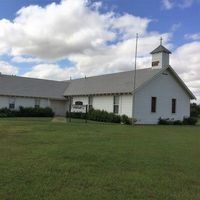
[[(137, 70), (136, 89), (159, 73), (161, 69)], [(134, 71), (72, 80), (65, 96), (132, 93)]]

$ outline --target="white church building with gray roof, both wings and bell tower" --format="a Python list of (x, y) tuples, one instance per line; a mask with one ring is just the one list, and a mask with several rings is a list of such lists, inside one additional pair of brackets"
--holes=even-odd
[[(64, 116), (72, 104), (134, 116), (137, 124), (190, 116), (193, 93), (169, 65), (171, 52), (162, 44), (151, 52), (152, 66), (69, 81), (0, 75), (0, 108), (51, 107)], [(134, 97), (134, 98), (133, 98)], [(134, 101), (133, 101), (134, 99)]]

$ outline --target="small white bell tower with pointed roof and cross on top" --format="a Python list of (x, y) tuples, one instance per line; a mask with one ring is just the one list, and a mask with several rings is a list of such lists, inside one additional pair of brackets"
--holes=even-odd
[(152, 69), (160, 69), (169, 66), (169, 54), (171, 54), (171, 52), (162, 45), (162, 40), (161, 37), (160, 45), (151, 52)]

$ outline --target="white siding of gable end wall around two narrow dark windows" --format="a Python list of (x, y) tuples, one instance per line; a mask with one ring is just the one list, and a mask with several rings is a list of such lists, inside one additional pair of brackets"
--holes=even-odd
[[(183, 120), (190, 115), (190, 98), (172, 77), (161, 75), (136, 93), (135, 116), (138, 124), (156, 124), (159, 117)], [(151, 97), (157, 97), (157, 111), (151, 113)], [(172, 114), (171, 100), (177, 99), (176, 114)]]

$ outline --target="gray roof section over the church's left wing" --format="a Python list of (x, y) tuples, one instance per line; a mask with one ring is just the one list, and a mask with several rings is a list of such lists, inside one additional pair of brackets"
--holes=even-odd
[(69, 82), (0, 74), (0, 95), (64, 99)]

